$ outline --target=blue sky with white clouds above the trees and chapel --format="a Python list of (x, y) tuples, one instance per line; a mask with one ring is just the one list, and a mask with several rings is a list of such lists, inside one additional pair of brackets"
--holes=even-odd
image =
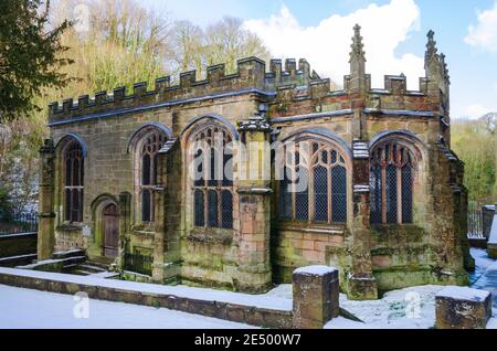
[[(453, 118), (497, 111), (497, 0), (141, 0), (144, 6), (207, 25), (239, 17), (276, 57), (304, 56), (341, 83), (353, 22), (363, 26), (367, 70), (408, 75), (417, 89), (426, 32), (436, 33), (452, 77)], [(473, 30), (469, 28), (473, 26)], [(401, 71), (401, 72), (399, 72)], [(413, 76), (414, 75), (414, 76)]]

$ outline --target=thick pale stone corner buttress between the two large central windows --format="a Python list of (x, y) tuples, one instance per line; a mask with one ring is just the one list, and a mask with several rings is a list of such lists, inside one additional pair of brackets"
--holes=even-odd
[(263, 292), (272, 286), (271, 127), (261, 116), (239, 124), (239, 269), (237, 288)]

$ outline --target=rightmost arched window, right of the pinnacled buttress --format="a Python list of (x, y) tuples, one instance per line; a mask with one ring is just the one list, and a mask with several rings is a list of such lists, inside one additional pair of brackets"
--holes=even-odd
[(371, 223), (409, 224), (413, 221), (414, 156), (389, 140), (371, 153)]

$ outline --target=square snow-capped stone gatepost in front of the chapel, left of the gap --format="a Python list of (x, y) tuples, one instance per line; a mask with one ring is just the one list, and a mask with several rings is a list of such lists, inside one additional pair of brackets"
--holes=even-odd
[(338, 317), (338, 269), (327, 266), (298, 268), (293, 274), (294, 328), (322, 329)]

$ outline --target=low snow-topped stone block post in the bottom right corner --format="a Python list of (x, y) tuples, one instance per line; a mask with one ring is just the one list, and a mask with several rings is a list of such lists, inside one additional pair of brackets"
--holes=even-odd
[(436, 297), (437, 329), (485, 329), (491, 317), (491, 294), (446, 287)]

